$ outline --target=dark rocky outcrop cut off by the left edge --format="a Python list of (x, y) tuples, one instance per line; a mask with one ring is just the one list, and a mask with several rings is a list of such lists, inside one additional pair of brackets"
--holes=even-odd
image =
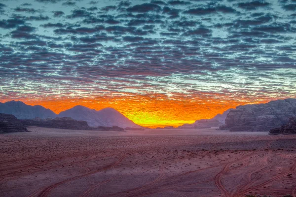
[(20, 121), (11, 114), (0, 113), (0, 133), (28, 131)]

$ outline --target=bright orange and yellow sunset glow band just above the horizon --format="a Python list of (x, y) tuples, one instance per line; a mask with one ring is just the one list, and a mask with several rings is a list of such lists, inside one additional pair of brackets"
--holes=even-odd
[[(211, 98), (211, 99), (209, 99)], [(273, 100), (276, 98), (273, 98)], [(12, 99), (9, 99), (12, 100)], [(9, 101), (8, 99), (0, 102)], [(100, 110), (112, 107), (124, 116), (144, 127), (156, 128), (165, 126), (178, 127), (185, 123), (193, 123), (198, 119), (213, 118), (218, 113), (238, 105), (250, 103), (265, 103), (270, 99), (245, 98), (225, 99), (223, 95), (206, 95), (204, 98), (188, 98), (180, 96), (174, 99), (164, 95), (137, 96), (137, 97), (108, 97), (108, 98), (59, 98), (59, 99), (32, 99), (15, 98), (29, 105), (42, 105), (55, 113), (67, 110), (75, 105), (83, 105), (91, 109)], [(223, 101), (224, 100), (224, 101)]]

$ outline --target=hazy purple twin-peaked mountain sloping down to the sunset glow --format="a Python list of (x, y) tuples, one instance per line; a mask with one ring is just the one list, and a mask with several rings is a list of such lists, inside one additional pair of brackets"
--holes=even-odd
[(75, 120), (84, 120), (90, 127), (112, 127), (118, 126), (121, 128), (141, 128), (133, 121), (126, 118), (113, 108), (104, 108), (101, 110), (89, 109), (87, 107), (77, 105), (71, 109), (61, 112), (59, 117), (70, 117)]

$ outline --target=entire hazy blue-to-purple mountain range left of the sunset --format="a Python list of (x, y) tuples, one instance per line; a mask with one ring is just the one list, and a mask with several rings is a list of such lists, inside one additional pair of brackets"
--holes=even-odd
[(0, 103), (0, 113), (12, 114), (18, 119), (26, 120), (69, 117), (74, 120), (86, 121), (90, 127), (118, 126), (120, 128), (142, 128), (113, 108), (95, 110), (77, 105), (60, 114), (55, 114), (50, 109), (46, 109), (41, 105), (32, 106), (21, 101), (12, 100)]

